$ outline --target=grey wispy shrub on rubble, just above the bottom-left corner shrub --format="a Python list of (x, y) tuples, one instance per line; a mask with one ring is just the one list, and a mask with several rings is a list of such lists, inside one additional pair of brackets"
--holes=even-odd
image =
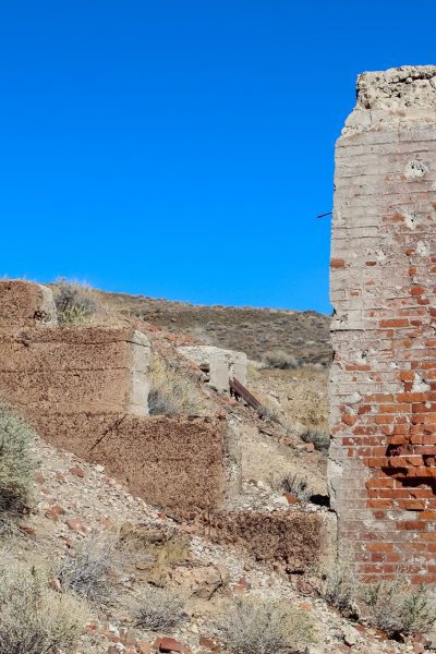
[(112, 537), (88, 538), (74, 552), (70, 549), (55, 568), (63, 589), (98, 604), (112, 594), (114, 571), (121, 567), (121, 552)]

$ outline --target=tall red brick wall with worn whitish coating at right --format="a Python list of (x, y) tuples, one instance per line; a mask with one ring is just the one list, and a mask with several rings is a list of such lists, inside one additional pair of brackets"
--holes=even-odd
[(336, 146), (329, 484), (365, 580), (436, 583), (436, 66), (358, 80)]

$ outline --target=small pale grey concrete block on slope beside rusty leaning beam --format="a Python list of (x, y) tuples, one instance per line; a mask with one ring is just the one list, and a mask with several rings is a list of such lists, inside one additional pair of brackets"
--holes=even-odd
[(187, 346), (178, 348), (178, 352), (196, 363), (208, 375), (208, 384), (221, 392), (229, 391), (229, 382), (233, 377), (246, 385), (244, 352), (211, 346)]

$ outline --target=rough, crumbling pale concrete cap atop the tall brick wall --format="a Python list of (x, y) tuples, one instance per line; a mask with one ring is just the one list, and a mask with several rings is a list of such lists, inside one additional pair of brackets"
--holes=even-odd
[(356, 105), (342, 135), (417, 121), (436, 122), (436, 65), (402, 65), (359, 75)]

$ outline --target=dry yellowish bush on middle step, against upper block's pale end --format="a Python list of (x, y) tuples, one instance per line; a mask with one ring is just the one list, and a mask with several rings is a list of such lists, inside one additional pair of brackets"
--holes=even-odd
[(202, 396), (195, 382), (164, 359), (155, 355), (149, 367), (150, 390), (148, 410), (150, 415), (198, 415), (202, 413)]

